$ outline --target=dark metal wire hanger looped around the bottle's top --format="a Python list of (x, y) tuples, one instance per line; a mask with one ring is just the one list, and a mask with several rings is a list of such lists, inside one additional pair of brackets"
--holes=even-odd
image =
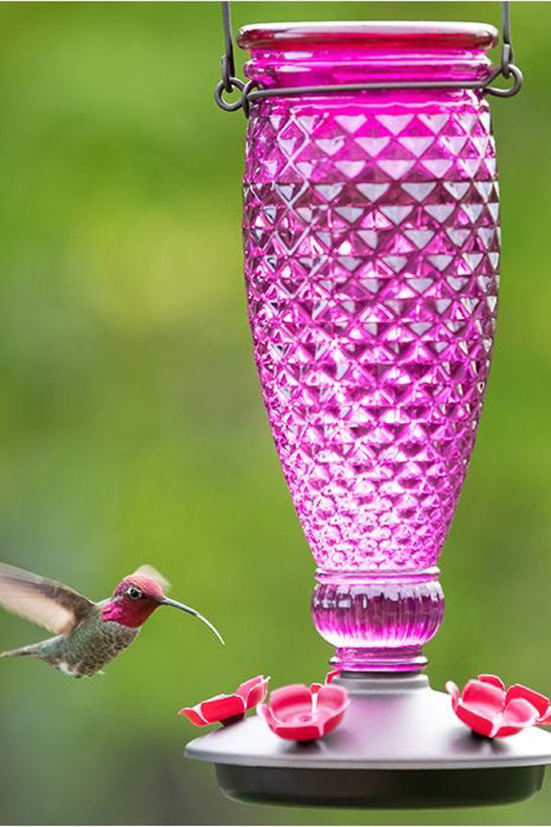
[[(501, 3), (501, 65), (496, 66), (490, 77), (480, 80), (434, 80), (410, 81), (366, 84), (330, 84), (327, 86), (292, 86), (275, 89), (257, 89), (254, 80), (245, 83), (235, 77), (235, 60), (233, 34), (231, 31), (230, 2), (222, 2), (222, 28), (224, 30), (225, 54), (221, 59), (221, 80), (216, 84), (214, 99), (225, 112), (236, 112), (243, 109), (249, 117), (249, 102), (260, 98), (281, 97), (292, 95), (332, 93), (332, 92), (361, 92), (368, 89), (481, 89), (483, 94), (495, 95), (497, 98), (511, 98), (519, 92), (523, 83), (523, 75), (519, 67), (513, 62), (513, 45), (511, 41), (511, 2)], [(504, 78), (513, 77), (513, 85), (509, 88), (492, 86), (493, 81), (502, 74)], [(234, 89), (240, 90), (240, 97), (233, 103), (224, 100), (224, 92), (230, 93)]]

